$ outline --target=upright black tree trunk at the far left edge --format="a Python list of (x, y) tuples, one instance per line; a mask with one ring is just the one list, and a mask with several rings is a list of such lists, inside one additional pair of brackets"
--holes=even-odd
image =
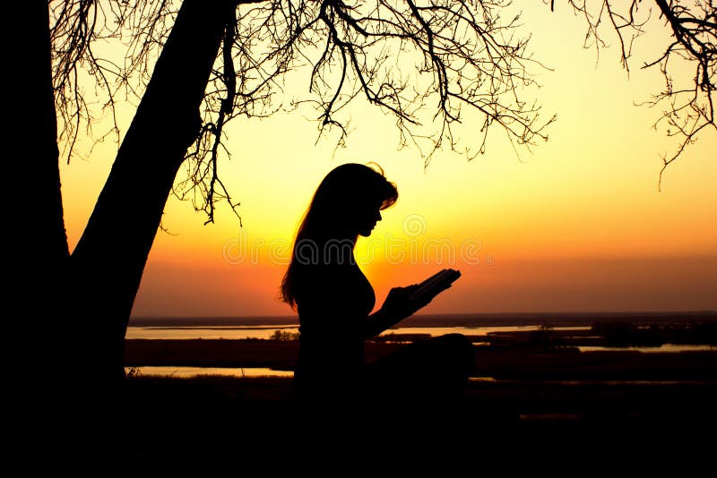
[[(11, 5), (8, 5), (11, 6)], [(55, 96), (47, 2), (15, 2), (7, 13), (22, 18), (26, 41), (7, 48), (4, 65), (16, 73), (17, 90), (5, 95), (4, 134), (6, 225), (4, 291), (6, 386), (5, 433), (12, 438), (8, 457), (19, 463), (37, 460), (49, 449), (59, 407), (51, 393), (62, 373), (50, 371), (65, 344), (61, 325), (60, 284), (69, 261), (60, 191)], [(8, 30), (9, 31), (9, 30)], [(15, 40), (17, 39), (14, 38)], [(12, 80), (11, 80), (12, 81)], [(8, 90), (10, 91), (10, 90)]]

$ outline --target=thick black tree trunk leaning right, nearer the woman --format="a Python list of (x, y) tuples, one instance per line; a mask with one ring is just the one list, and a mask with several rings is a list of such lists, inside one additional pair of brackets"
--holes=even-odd
[(75, 358), (93, 380), (124, 377), (125, 330), (233, 6), (186, 0), (84, 234), (72, 254)]

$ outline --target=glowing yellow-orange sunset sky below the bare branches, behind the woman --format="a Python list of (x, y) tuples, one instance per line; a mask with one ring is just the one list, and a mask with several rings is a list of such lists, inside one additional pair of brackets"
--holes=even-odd
[[(628, 78), (615, 48), (596, 65), (566, 12), (542, 8), (525, 22), (531, 50), (554, 69), (536, 92), (545, 116), (557, 114), (548, 142), (517, 158), (496, 130), (484, 156), (441, 153), (424, 169), (415, 149), (397, 150), (393, 120), (365, 107), (335, 152), (301, 115), (238, 118), (221, 168), (244, 227), (224, 206), (203, 226), (170, 198), (171, 234), (158, 233), (133, 315), (289, 314), (276, 294), (299, 218), (329, 170), (367, 161), (400, 192), (358, 244), (377, 305), (391, 286), (453, 267), (462, 278), (424, 312), (717, 309), (717, 133), (669, 166), (658, 192), (660, 155), (674, 143), (651, 129), (659, 111), (633, 102), (660, 90), (660, 74), (635, 61)], [(106, 144), (61, 165), (71, 248), (113, 158)]]

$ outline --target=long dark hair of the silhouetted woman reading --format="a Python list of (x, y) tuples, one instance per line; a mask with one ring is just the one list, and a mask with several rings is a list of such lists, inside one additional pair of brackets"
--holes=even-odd
[(346, 236), (354, 219), (352, 212), (372, 204), (386, 209), (398, 199), (395, 184), (386, 180), (380, 166), (376, 167), (377, 171), (357, 163), (337, 166), (316, 188), (298, 227), (291, 262), (281, 281), (281, 299), (292, 309), (296, 306), (301, 266), (307, 265), (307, 248), (322, 252), (330, 241), (355, 243), (355, 234)]

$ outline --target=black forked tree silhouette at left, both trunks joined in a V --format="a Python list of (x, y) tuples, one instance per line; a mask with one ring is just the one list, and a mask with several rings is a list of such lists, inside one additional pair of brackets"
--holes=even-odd
[[(12, 132), (32, 125), (13, 158), (24, 212), (16, 235), (22, 264), (11, 269), (19, 375), (11, 434), (27, 459), (53, 466), (119, 465), (124, 339), (134, 296), (168, 193), (196, 138), (212, 64), (234, 4), (186, 0), (73, 253), (68, 251), (58, 168), (48, 4), (22, 3), (29, 47), (19, 63), (30, 88)], [(23, 47), (25, 48), (25, 47)], [(28, 170), (31, 168), (31, 175)], [(30, 182), (31, 179), (31, 182)], [(22, 189), (21, 189), (22, 191)], [(18, 261), (21, 262), (21, 261)], [(14, 294), (17, 292), (18, 294)], [(16, 393), (15, 393), (16, 392)], [(15, 410), (13, 409), (13, 413)], [(37, 456), (36, 456), (37, 455)], [(21, 454), (22, 456), (22, 454)]]

